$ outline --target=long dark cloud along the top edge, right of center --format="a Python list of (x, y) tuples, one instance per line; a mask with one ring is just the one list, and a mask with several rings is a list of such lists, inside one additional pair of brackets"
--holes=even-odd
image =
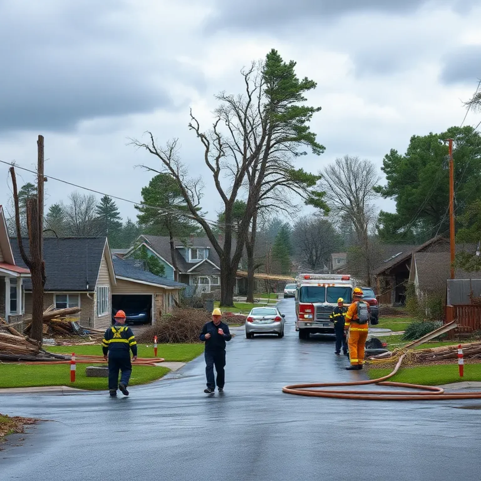
[(331, 20), (349, 13), (409, 13), (421, 6), (464, 9), (477, 0), (219, 0), (212, 20), (217, 28), (238, 25), (259, 29), (291, 24), (299, 19)]

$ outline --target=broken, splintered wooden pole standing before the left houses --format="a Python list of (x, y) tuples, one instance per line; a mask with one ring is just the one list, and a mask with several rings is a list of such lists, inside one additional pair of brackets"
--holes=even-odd
[[(43, 183), (44, 177), (44, 154), (43, 136), (38, 136), (38, 180), (37, 197), (27, 199), (27, 229), (30, 257), (25, 253), (20, 227), (20, 209), (18, 203), (17, 179), (15, 168), (10, 167), (10, 175), (13, 185), (13, 202), (15, 205), (15, 226), (20, 255), (25, 265), (30, 269), (32, 279), (32, 327), (30, 337), (42, 342), (43, 337), (43, 288), (45, 286), (45, 262), (43, 260)], [(18, 295), (21, 295), (18, 294)]]

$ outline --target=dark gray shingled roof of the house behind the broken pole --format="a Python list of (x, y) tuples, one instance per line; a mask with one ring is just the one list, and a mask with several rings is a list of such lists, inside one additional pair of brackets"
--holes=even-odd
[[(18, 266), (26, 267), (18, 241), (11, 238), (13, 257)], [(28, 240), (23, 240), (27, 256)], [(45, 291), (94, 291), (99, 275), (105, 237), (47, 237), (43, 241), (43, 257), (47, 281)], [(87, 289), (87, 282), (89, 289)], [(31, 291), (30, 279), (24, 279), (25, 290)]]

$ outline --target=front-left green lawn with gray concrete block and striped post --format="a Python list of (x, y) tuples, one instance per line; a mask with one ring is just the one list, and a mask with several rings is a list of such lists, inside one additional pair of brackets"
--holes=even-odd
[[(85, 368), (95, 364), (77, 364), (76, 382), (70, 382), (70, 365), (0, 364), (0, 388), (23, 388), (37, 386), (70, 386), (91, 391), (106, 390), (107, 378), (87, 378)], [(165, 376), (166, 367), (135, 366), (130, 385), (146, 384)]]

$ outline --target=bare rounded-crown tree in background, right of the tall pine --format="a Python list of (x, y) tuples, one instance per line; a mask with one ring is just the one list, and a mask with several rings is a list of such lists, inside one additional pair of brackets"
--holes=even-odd
[(376, 166), (369, 160), (345, 155), (337, 158), (323, 172), (321, 185), (326, 191), (325, 200), (333, 215), (350, 224), (357, 238), (357, 256), (365, 261), (365, 278), (372, 283), (372, 268), (376, 261), (372, 249), (372, 236), (377, 219), (373, 190), (380, 181)]

